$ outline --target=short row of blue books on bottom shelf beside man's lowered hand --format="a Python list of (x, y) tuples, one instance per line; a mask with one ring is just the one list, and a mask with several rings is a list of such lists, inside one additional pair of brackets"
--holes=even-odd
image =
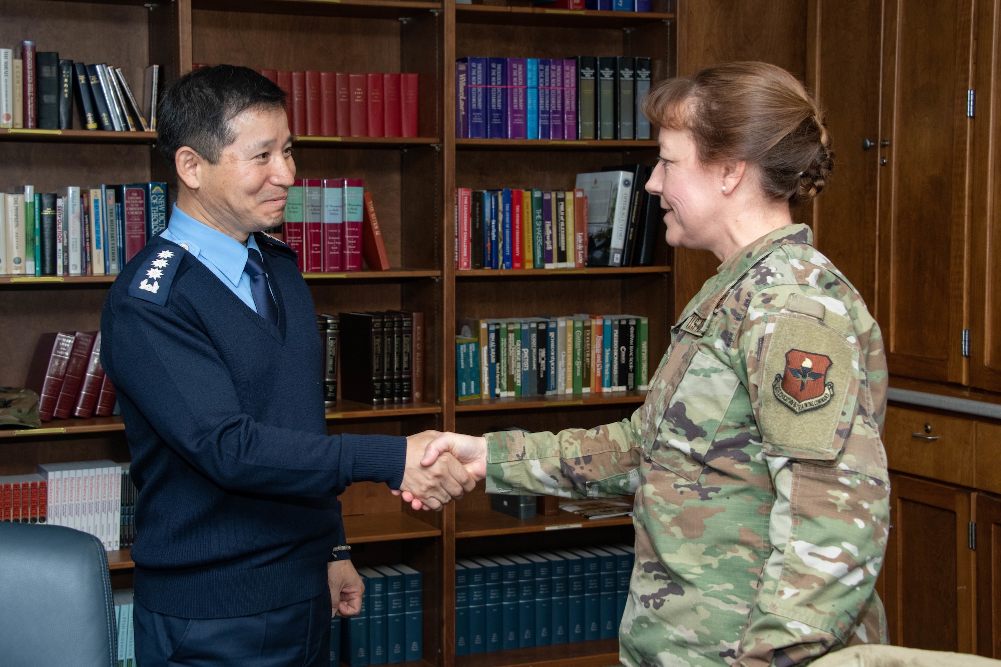
[(330, 667), (419, 660), (423, 652), (422, 575), (406, 565), (358, 568), (365, 584), (361, 612), (330, 621)]

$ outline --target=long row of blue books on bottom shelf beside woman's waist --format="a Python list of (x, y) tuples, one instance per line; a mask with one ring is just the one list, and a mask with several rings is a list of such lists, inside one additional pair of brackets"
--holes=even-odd
[(455, 655), (617, 637), (634, 561), (625, 544), (456, 561)]

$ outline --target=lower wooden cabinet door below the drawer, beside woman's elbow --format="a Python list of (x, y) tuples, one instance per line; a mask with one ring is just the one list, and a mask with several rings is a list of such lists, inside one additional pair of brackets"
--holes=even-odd
[(881, 579), (890, 643), (972, 653), (971, 492), (890, 476), (890, 531)]

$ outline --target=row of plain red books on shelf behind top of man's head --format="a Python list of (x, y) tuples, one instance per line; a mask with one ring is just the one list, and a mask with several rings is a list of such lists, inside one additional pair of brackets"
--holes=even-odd
[(416, 74), (257, 71), (285, 91), (296, 136), (417, 136)]

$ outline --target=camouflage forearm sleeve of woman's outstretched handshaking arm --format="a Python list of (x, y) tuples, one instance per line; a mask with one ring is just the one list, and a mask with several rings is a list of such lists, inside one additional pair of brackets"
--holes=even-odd
[(525, 434), (500, 431), (486, 438), (486, 493), (562, 498), (628, 496), (640, 481), (641, 410), (628, 420), (595, 429)]

